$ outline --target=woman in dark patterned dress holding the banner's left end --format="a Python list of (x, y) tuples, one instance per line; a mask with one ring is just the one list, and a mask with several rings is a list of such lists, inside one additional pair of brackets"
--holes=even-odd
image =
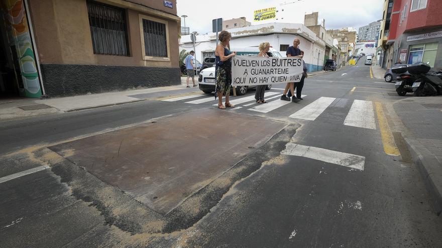
[[(235, 107), (229, 102), (230, 87), (232, 85), (232, 58), (236, 55), (236, 52), (230, 52), (231, 38), (232, 35), (229, 32), (221, 31), (218, 35), (220, 43), (215, 50), (215, 98), (217, 95), (219, 109)], [(223, 95), (226, 96), (226, 107), (223, 105)]]

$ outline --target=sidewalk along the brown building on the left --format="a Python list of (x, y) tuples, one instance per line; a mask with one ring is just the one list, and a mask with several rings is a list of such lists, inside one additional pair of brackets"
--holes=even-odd
[[(195, 83), (198, 79), (195, 77)], [(189, 82), (192, 85), (192, 82)], [(181, 77), (181, 85), (126, 90), (72, 97), (56, 97), (45, 100), (36, 98), (14, 98), (0, 100), (0, 121), (24, 119), (54, 113), (113, 106), (124, 103), (154, 100), (172, 95), (191, 95), (201, 91), (198, 87), (186, 88), (186, 77)], [(155, 94), (156, 93), (156, 94)]]

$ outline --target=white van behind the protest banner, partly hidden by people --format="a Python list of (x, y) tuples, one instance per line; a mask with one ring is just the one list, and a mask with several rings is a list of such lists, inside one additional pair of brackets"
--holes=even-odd
[[(259, 49), (258, 47), (245, 47), (245, 48), (231, 48), (231, 51), (237, 52), (237, 55), (239, 56), (258, 56)], [(269, 57), (276, 57), (276, 58), (283, 58), (281, 54), (273, 48), (269, 49), (269, 52), (267, 52), (267, 55)], [(198, 87), (202, 92), (210, 94), (215, 91), (215, 67), (209, 67), (201, 71), (201, 73), (198, 76)], [(250, 86), (252, 89), (256, 86)], [(272, 85), (267, 85), (266, 90), (270, 90), (272, 88)], [(236, 87), (236, 93), (239, 96), (242, 96), (247, 93), (247, 90), (249, 89), (249, 86), (237, 86)]]

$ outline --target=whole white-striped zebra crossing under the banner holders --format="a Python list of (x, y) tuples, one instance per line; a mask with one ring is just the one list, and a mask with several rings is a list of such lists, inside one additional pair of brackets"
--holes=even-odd
[[(205, 96), (205, 97), (203, 97)], [(259, 113), (269, 113), (279, 108), (284, 107), (287, 104), (291, 104), (291, 101), (281, 101), (279, 100), (280, 92), (266, 92), (264, 94), (265, 99), (268, 103), (257, 104), (255, 101), (255, 96), (250, 95), (246, 97), (235, 97), (230, 102), (236, 105), (236, 108), (232, 110), (245, 109), (247, 111), (259, 112)], [(302, 95), (304, 98), (307, 95)], [(203, 97), (203, 98), (201, 98)], [(194, 99), (198, 98), (198, 99)], [(217, 102), (213, 96), (207, 97), (206, 94), (196, 94), (190, 96), (175, 97), (169, 99), (163, 99), (161, 101), (176, 102), (181, 100), (187, 100), (185, 103), (188, 104), (204, 104)], [(360, 127), (366, 129), (376, 129), (376, 119), (374, 112), (374, 105), (372, 101), (364, 100), (351, 100), (346, 98), (334, 98), (334, 97), (319, 97), (313, 102), (301, 109), (297, 110), (293, 114), (289, 115), (289, 118), (301, 119), (307, 121), (314, 121), (318, 118), (326, 109), (330, 106), (345, 108), (351, 103), (350, 110), (344, 120), (345, 126)], [(213, 104), (217, 106), (217, 103)], [(295, 105), (298, 106), (298, 105)]]

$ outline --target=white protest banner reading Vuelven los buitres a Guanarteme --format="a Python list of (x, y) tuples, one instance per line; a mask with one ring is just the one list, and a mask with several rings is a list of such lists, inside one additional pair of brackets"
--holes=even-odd
[(232, 60), (232, 86), (299, 82), (302, 69), (300, 58), (235, 56)]

